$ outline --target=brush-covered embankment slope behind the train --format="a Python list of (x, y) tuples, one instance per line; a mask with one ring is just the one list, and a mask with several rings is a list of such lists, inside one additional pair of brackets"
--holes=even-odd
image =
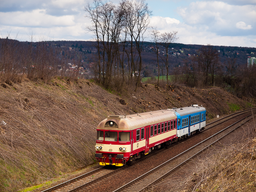
[[(92, 80), (55, 78), (50, 84), (23, 81), (0, 86), (0, 191), (19, 191), (67, 177), (95, 162), (96, 127), (108, 115), (134, 114), (193, 104), (207, 119), (252, 107), (219, 87), (204, 89), (153, 84), (121, 93)], [(55, 179), (56, 180), (56, 179)], [(42, 185), (37, 185), (42, 187)], [(36, 187), (35, 187), (36, 188)]]

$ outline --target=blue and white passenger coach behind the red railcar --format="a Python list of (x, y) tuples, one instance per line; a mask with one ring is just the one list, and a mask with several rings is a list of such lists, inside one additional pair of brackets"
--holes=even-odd
[(186, 138), (194, 133), (204, 129), (205, 113), (204, 107), (193, 105), (191, 107), (173, 108), (178, 118), (177, 137)]

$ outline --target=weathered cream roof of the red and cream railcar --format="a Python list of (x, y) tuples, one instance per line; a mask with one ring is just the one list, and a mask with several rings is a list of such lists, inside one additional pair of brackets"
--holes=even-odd
[[(176, 119), (177, 116), (172, 109), (163, 109), (158, 111), (151, 111), (146, 113), (138, 113), (126, 116), (108, 116), (100, 122), (97, 129), (100, 130), (120, 130), (129, 131), (145, 127), (147, 125), (157, 124), (159, 122)], [(110, 127), (106, 124), (109, 121), (114, 121), (117, 127)]]

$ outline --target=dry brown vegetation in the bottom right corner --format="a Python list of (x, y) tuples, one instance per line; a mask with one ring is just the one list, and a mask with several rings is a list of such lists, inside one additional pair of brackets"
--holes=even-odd
[(256, 130), (253, 122), (247, 126), (231, 144), (196, 163), (183, 192), (256, 191)]

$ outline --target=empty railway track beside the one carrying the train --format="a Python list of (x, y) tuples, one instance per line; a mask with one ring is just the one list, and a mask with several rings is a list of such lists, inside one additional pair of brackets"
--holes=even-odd
[[(248, 116), (247, 116), (248, 117)], [(211, 146), (216, 141), (220, 140), (228, 133), (235, 130), (237, 127), (240, 127), (242, 124), (250, 120), (251, 118), (244, 117), (243, 119), (237, 121), (236, 123), (228, 126), (227, 128), (223, 129), (222, 131), (214, 134), (213, 136), (203, 140), (202, 142), (198, 143), (197, 145), (189, 148), (188, 150), (184, 151), (183, 153), (179, 154), (178, 156), (173, 157), (172, 159), (166, 161), (165, 163), (157, 166), (156, 168), (152, 169), (151, 171), (141, 175), (135, 180), (127, 183), (126, 185), (118, 188), (114, 192), (140, 192), (150, 186), (154, 185), (156, 182), (161, 180), (162, 178), (176, 173), (178, 169), (186, 164), (190, 159), (197, 156), (201, 152), (203, 152), (206, 148)], [(247, 120), (244, 120), (246, 119)], [(244, 120), (244, 121), (243, 121)]]

